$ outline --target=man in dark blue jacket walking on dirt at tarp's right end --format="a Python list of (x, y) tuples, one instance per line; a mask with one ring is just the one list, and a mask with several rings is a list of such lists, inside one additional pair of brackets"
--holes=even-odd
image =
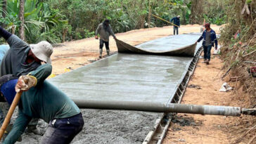
[(203, 39), (203, 63), (209, 65), (211, 58), (211, 49), (215, 46), (215, 49), (218, 47), (218, 41), (216, 33), (210, 28), (210, 23), (205, 24), (205, 30), (203, 31), (202, 36), (198, 39), (197, 42), (200, 42)]

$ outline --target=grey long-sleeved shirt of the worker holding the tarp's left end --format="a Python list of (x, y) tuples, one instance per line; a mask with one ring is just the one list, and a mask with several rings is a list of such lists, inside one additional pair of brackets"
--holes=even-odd
[(98, 28), (95, 32), (96, 35), (100, 34), (100, 38), (103, 40), (103, 41), (109, 41), (109, 37), (110, 35), (112, 35), (113, 37), (115, 37), (115, 34), (111, 28), (110, 25), (108, 25), (108, 28), (107, 30), (104, 29), (103, 27), (103, 23), (101, 23), (100, 25), (98, 25)]

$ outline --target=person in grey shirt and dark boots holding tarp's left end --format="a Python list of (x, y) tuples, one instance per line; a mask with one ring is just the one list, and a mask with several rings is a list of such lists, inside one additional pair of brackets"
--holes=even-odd
[(109, 49), (109, 37), (112, 35), (114, 39), (117, 39), (115, 37), (115, 34), (110, 26), (110, 21), (108, 19), (104, 20), (103, 23), (98, 25), (98, 28), (95, 32), (95, 39), (98, 39), (98, 34), (100, 34), (100, 56), (99, 58), (102, 58), (102, 51), (103, 51), (103, 44), (105, 44), (105, 49), (107, 50), (108, 56), (110, 55), (110, 49)]

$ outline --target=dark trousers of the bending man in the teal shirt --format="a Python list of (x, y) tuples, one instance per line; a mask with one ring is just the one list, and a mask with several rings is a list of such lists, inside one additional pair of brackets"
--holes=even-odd
[(75, 116), (53, 119), (49, 122), (49, 127), (46, 129), (42, 138), (42, 144), (66, 144), (71, 143), (73, 138), (82, 131), (84, 119), (79, 113)]

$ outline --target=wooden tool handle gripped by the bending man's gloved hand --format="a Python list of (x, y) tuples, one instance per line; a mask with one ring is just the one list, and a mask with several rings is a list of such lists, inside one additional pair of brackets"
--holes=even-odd
[(8, 126), (8, 124), (11, 120), (11, 116), (13, 115), (15, 107), (18, 105), (20, 97), (21, 97), (22, 94), (23, 94), (23, 92), (16, 93), (16, 95), (13, 99), (13, 103), (11, 103), (11, 107), (8, 110), (8, 113), (6, 114), (6, 118), (4, 119), (4, 123), (3, 123), (3, 125), (1, 126), (1, 129), (0, 129), (0, 140), (4, 135), (4, 131), (6, 131), (6, 127)]

